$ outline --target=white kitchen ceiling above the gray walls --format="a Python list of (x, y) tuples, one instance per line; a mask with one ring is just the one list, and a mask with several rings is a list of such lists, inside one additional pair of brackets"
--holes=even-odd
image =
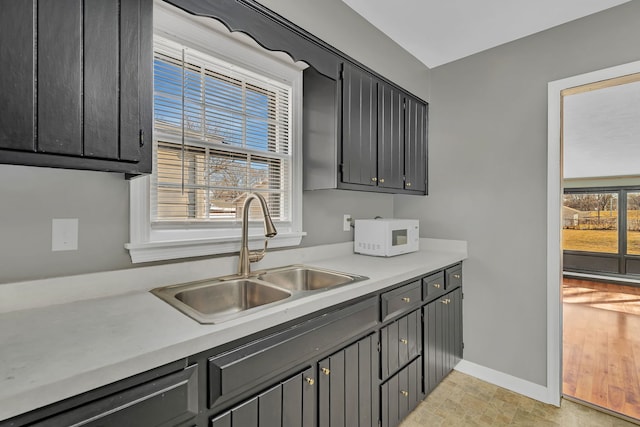
[(429, 68), (629, 0), (342, 0)]

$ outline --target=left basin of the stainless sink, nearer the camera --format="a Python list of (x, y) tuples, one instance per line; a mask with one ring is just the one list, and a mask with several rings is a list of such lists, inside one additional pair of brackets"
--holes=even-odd
[(200, 323), (229, 320), (291, 296), (291, 292), (254, 279), (194, 282), (151, 292)]

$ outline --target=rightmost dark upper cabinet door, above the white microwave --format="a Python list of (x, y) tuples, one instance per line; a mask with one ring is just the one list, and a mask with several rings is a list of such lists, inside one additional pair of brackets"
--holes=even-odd
[(404, 189), (427, 194), (427, 105), (405, 99)]

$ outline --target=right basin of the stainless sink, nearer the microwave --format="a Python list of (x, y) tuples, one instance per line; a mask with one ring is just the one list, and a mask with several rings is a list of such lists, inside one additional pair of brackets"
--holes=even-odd
[(297, 265), (269, 270), (259, 274), (258, 278), (290, 291), (315, 291), (366, 279), (363, 276)]

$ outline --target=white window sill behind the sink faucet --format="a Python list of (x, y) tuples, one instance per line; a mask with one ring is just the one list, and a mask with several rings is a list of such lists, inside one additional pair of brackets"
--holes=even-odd
[[(306, 233), (283, 233), (269, 239), (269, 248), (298, 246)], [(264, 245), (263, 235), (250, 235), (249, 247), (261, 249)], [(176, 258), (207, 256), (212, 254), (232, 254), (240, 251), (237, 237), (221, 237), (197, 240), (167, 240), (146, 243), (127, 243), (131, 261), (135, 263), (150, 261), (166, 261)], [(255, 248), (255, 249), (254, 249)]]

